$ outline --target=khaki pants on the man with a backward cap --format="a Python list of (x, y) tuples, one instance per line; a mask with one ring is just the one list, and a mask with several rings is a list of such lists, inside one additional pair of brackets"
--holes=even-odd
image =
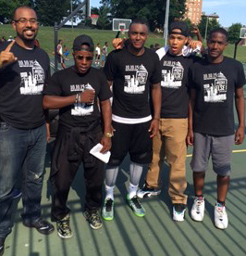
[(186, 135), (188, 119), (161, 119), (159, 133), (153, 139), (153, 160), (146, 175), (146, 185), (161, 186), (160, 172), (163, 162), (169, 166), (168, 194), (172, 203), (187, 203), (184, 191), (187, 186), (185, 173)]

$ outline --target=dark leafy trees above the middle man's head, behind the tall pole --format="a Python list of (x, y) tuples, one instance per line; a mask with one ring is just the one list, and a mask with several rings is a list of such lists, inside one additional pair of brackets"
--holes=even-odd
[[(166, 1), (163, 0), (101, 0), (103, 6), (110, 9), (113, 18), (147, 19), (151, 31), (156, 27), (163, 28), (166, 14)], [(169, 21), (182, 18), (185, 12), (185, 0), (171, 0)]]

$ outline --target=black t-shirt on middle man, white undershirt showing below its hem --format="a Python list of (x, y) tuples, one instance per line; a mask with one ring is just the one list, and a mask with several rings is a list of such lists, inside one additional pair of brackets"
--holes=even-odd
[(153, 83), (161, 82), (160, 61), (150, 49), (135, 56), (127, 47), (111, 52), (105, 75), (113, 81), (113, 114), (123, 118), (144, 118), (151, 114), (149, 93)]

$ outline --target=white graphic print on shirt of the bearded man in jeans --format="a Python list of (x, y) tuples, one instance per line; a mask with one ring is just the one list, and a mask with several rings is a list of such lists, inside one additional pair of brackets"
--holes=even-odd
[(20, 72), (20, 94), (40, 95), (43, 92), (44, 71), (37, 60), (18, 60), (19, 68), (31, 68), (31, 71)]

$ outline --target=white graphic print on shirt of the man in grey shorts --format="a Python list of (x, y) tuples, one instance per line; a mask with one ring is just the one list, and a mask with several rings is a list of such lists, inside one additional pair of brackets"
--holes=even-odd
[(224, 102), (227, 100), (228, 79), (222, 72), (203, 74), (203, 80), (210, 80), (210, 83), (203, 84), (205, 102)]

